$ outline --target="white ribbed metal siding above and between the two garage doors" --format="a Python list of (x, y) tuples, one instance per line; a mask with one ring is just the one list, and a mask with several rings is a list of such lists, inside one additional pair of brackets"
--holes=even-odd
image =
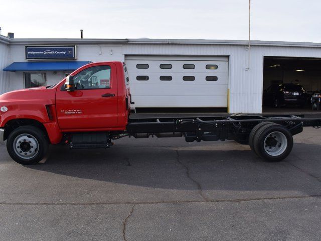
[(244, 45), (211, 44), (126, 44), (125, 55), (188, 55), (229, 56), (228, 86), (230, 112), (261, 113), (263, 92), (263, 57), (310, 57), (321, 58), (318, 46), (251, 46), (250, 68), (248, 50)]

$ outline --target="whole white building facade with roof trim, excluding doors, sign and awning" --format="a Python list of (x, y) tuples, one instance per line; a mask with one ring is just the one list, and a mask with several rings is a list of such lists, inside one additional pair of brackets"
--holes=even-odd
[[(15, 39), (10, 49), (8, 45), (0, 43), (1, 93), (22, 87), (21, 72), (9, 74), (2, 69), (14, 61), (25, 61), (24, 45), (33, 43), (33, 41), (32, 39), (23, 41)], [(37, 40), (36, 42), (49, 44), (55, 41), (62, 44), (76, 43), (79, 40)], [(159, 40), (158, 43), (155, 40), (143, 40), (139, 44), (137, 44), (139, 40), (130, 40), (129, 43), (118, 41), (119, 44), (116, 42), (108, 44), (107, 40), (97, 40), (97, 43), (93, 40), (88, 41), (91, 41), (91, 44), (77, 42), (78, 60), (124, 61), (124, 55), (229, 56), (230, 112), (258, 113), (262, 111), (263, 56), (321, 58), (321, 45), (317, 43), (253, 41), (255, 45), (251, 46), (250, 69), (245, 70), (248, 61), (246, 41), (227, 41), (226, 43), (224, 41), (192, 41), (192, 43), (183, 40), (172, 42)]]

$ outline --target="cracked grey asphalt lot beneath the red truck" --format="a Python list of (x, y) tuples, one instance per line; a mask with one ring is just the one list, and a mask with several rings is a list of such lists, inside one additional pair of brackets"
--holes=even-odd
[(321, 240), (321, 129), (294, 142), (280, 163), (183, 138), (54, 146), (32, 166), (0, 147), (0, 240)]

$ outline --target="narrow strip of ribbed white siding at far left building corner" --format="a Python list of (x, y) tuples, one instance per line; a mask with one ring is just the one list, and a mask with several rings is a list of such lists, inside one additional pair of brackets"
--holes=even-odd
[(0, 43), (0, 94), (10, 90), (9, 73), (3, 71), (10, 64), (9, 45)]

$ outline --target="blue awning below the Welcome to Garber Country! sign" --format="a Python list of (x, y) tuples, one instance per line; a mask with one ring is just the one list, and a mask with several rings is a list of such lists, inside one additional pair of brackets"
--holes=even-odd
[(90, 61), (13, 62), (4, 71), (71, 71), (88, 63)]

